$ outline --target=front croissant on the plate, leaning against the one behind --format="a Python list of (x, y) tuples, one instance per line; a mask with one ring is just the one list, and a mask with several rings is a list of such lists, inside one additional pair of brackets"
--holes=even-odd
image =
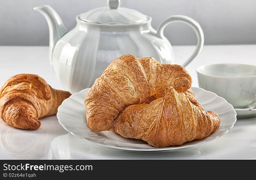
[[(189, 100), (191, 99), (191, 100)], [(126, 138), (143, 139), (154, 147), (182, 145), (209, 136), (220, 126), (220, 118), (205, 111), (191, 90), (163, 90), (162, 97), (149, 104), (128, 106), (113, 121), (112, 131)]]

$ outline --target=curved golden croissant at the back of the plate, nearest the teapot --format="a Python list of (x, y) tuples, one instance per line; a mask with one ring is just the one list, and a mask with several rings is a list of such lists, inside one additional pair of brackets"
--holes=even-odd
[(185, 92), (191, 83), (191, 76), (182, 66), (161, 64), (152, 57), (121, 56), (96, 79), (86, 95), (88, 126), (95, 131), (111, 130), (113, 119), (125, 107), (144, 103), (167, 86)]

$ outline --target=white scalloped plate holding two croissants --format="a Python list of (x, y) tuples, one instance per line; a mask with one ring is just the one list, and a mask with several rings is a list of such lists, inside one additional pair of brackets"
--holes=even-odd
[(89, 88), (76, 94), (72, 94), (68, 99), (65, 99), (58, 108), (57, 117), (59, 123), (71, 134), (109, 148), (134, 151), (163, 151), (186, 148), (200, 143), (205, 143), (222, 136), (234, 126), (234, 123), (237, 120), (233, 106), (227, 103), (225, 99), (202, 88), (191, 89), (195, 94), (195, 98), (202, 104), (205, 110), (211, 110), (219, 115), (221, 118), (221, 125), (218, 130), (211, 133), (208, 137), (186, 142), (181, 146), (155, 148), (149, 146), (143, 140), (124, 138), (112, 131), (94, 132), (87, 126), (85, 115), (84, 99)]

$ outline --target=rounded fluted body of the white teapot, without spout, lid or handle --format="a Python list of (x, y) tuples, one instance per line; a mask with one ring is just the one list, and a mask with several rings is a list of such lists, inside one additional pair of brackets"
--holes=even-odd
[(116, 58), (132, 54), (174, 63), (166, 38), (157, 36), (151, 18), (141, 24), (97, 24), (81, 21), (54, 47), (51, 65), (65, 90), (71, 93), (91, 87)]

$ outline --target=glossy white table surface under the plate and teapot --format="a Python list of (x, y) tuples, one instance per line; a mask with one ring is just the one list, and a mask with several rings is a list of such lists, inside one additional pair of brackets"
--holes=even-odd
[[(174, 46), (175, 62), (189, 57), (194, 46)], [(0, 46), (0, 85), (20, 73), (43, 77), (62, 89), (48, 61), (48, 47)], [(256, 65), (256, 45), (204, 46), (186, 68), (198, 87), (195, 69), (212, 63)], [(56, 116), (41, 119), (39, 130), (20, 130), (0, 120), (0, 159), (256, 159), (256, 117), (238, 119), (222, 137), (191, 148), (133, 152), (106, 148), (69, 134)]]

